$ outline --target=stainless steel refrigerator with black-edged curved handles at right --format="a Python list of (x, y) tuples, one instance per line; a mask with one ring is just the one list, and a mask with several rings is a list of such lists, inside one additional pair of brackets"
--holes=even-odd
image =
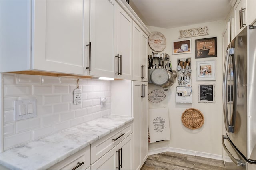
[(256, 26), (228, 45), (223, 75), (226, 169), (256, 170)]

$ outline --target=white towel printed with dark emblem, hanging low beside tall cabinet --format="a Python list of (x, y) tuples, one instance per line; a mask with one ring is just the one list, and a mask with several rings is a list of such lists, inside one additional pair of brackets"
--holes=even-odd
[(168, 108), (148, 109), (150, 143), (170, 140)]

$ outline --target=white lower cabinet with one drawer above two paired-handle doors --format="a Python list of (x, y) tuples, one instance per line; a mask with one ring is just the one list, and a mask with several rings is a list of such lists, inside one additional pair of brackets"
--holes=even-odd
[(132, 169), (133, 123), (91, 144), (91, 169)]

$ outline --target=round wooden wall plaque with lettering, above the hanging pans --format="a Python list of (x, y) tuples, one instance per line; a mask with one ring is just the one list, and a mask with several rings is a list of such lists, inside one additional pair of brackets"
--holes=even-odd
[(160, 32), (154, 31), (148, 36), (149, 46), (157, 52), (161, 52), (166, 47), (166, 39)]

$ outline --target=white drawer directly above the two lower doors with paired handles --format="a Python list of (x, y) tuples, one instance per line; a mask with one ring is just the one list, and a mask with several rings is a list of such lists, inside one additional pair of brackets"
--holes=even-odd
[(91, 144), (91, 164), (114, 148), (114, 146), (129, 136), (132, 132), (133, 126), (132, 123), (129, 123)]

